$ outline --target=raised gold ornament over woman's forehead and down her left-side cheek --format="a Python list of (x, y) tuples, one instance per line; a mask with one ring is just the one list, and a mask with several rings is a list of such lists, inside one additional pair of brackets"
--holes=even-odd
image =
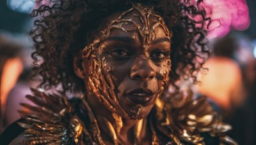
[[(137, 11), (138, 13), (133, 13), (132, 11)], [(95, 39), (92, 44), (86, 46), (83, 49), (83, 58), (87, 59), (92, 63), (92, 65), (88, 68), (89, 72), (89, 81), (88, 86), (90, 90), (97, 96), (97, 98), (113, 113), (122, 114), (127, 118), (136, 118), (137, 114), (132, 114), (129, 116), (120, 103), (118, 99), (116, 99), (116, 95), (114, 92), (115, 85), (113, 85), (113, 80), (111, 78), (111, 74), (109, 71), (106, 71), (104, 67), (106, 67), (106, 59), (102, 60), (102, 63), (96, 61), (95, 54), (98, 49), (104, 49), (104, 46), (100, 46), (100, 42), (104, 39), (108, 38), (112, 29), (120, 29), (124, 32), (132, 32), (132, 38), (135, 38), (136, 34), (140, 35), (143, 38), (143, 48), (147, 50), (148, 45), (156, 39), (156, 27), (162, 27), (166, 36), (170, 38), (171, 34), (168, 31), (168, 27), (164, 23), (164, 20), (159, 15), (152, 13), (153, 7), (141, 6), (138, 3), (132, 3), (132, 8), (127, 11), (124, 11), (119, 17), (114, 19), (107, 27), (102, 31), (99, 39)], [(130, 18), (124, 18), (127, 13), (131, 13), (132, 16)], [(135, 21), (135, 18), (139, 18), (140, 23)], [(154, 22), (152, 23), (150, 20), (152, 18)], [(134, 25), (133, 29), (127, 29), (124, 26), (132, 24)], [(92, 57), (93, 55), (93, 57)], [(165, 83), (164, 83), (165, 84)], [(140, 110), (138, 110), (140, 112)]]

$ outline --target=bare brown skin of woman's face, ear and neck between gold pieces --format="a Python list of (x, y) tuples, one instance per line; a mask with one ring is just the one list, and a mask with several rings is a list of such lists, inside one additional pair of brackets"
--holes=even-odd
[[(138, 12), (131, 11), (126, 17), (131, 17), (134, 13), (137, 14)], [(150, 23), (153, 23), (154, 18), (150, 21)], [(140, 24), (141, 27), (143, 25), (139, 19), (134, 19), (134, 22)], [(132, 27), (134, 26), (124, 26), (125, 29), (131, 29)], [(120, 29), (113, 29), (108, 38), (100, 43), (99, 48), (102, 49), (99, 49), (97, 52), (97, 59), (106, 59), (106, 65), (113, 68), (111, 76), (115, 79), (115, 93), (125, 112), (132, 115), (131, 108), (138, 105), (142, 106), (136, 120), (121, 116), (124, 125), (120, 130), (120, 134), (118, 134), (118, 142), (122, 144), (134, 143), (134, 125), (138, 123), (138, 120), (147, 117), (156, 102), (160, 90), (163, 89), (163, 81), (157, 78), (157, 75), (163, 73), (163, 71), (166, 71), (166, 76), (169, 74), (170, 69), (167, 66), (170, 66), (170, 38), (166, 36), (162, 27), (156, 27), (155, 32), (156, 38), (148, 43), (148, 48), (145, 49), (143, 48), (143, 39), (140, 34), (136, 33), (136, 37), (132, 38), (134, 31), (124, 32)], [(74, 71), (87, 84), (88, 78), (84, 74), (88, 72), (85, 69), (88, 66), (88, 62), (86, 60), (83, 60), (82, 63), (79, 61), (81, 59), (75, 57)], [(164, 79), (168, 81), (168, 77)], [(151, 93), (150, 95), (143, 94), (140, 91), (130, 93), (136, 89), (147, 89)], [(99, 99), (89, 91), (87, 96), (88, 104), (92, 107), (93, 112), (108, 118), (113, 127), (115, 127), (115, 119), (111, 115), (111, 111), (106, 109)], [(106, 144), (113, 144), (108, 133), (102, 131), (101, 135)], [(149, 144), (151, 140), (150, 135), (147, 121), (144, 120), (140, 134), (140, 143)]]

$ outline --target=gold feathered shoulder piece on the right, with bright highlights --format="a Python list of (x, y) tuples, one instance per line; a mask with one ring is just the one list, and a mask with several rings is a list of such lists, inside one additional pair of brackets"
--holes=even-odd
[(212, 110), (207, 97), (193, 99), (188, 97), (185, 103), (171, 111), (173, 132), (179, 132), (181, 141), (192, 144), (205, 144), (201, 135), (209, 134), (211, 137), (219, 137), (220, 143), (237, 144), (227, 136), (230, 125), (221, 123), (218, 114)]

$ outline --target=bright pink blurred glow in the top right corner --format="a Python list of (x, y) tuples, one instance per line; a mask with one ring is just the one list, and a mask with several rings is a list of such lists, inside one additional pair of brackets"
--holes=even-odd
[(214, 20), (209, 27), (209, 38), (223, 37), (231, 29), (243, 31), (250, 26), (245, 0), (204, 0), (204, 5), (208, 7), (206, 11), (209, 17)]

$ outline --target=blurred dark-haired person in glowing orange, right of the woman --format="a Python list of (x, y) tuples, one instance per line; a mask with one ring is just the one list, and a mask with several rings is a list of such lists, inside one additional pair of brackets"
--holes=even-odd
[(204, 67), (209, 69), (202, 73), (198, 92), (209, 96), (222, 109), (226, 120), (234, 107), (241, 106), (245, 97), (243, 74), (237, 63), (235, 52), (239, 49), (236, 40), (230, 35), (217, 39), (213, 45), (213, 56)]

